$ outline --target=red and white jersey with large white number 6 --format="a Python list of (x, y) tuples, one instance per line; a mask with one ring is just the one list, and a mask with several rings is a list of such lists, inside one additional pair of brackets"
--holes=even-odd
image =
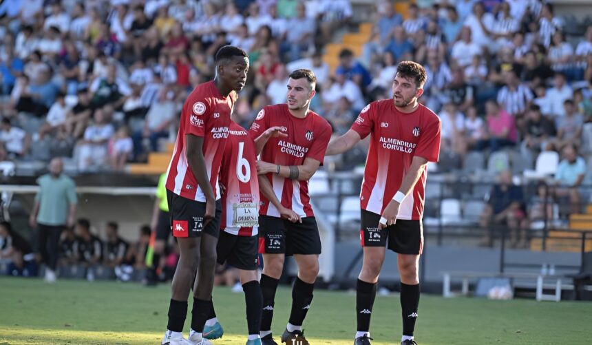
[(230, 123), (222, 154), (220, 229), (238, 236), (255, 236), (259, 225), (259, 179), (255, 140), (236, 123)]

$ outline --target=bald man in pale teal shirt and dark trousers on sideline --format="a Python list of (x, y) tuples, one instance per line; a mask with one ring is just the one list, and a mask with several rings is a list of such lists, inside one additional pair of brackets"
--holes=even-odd
[(55, 282), (62, 230), (74, 226), (76, 213), (76, 185), (72, 178), (62, 174), (63, 162), (54, 158), (50, 162), (50, 174), (37, 179), (39, 191), (29, 223), (39, 231), (39, 252), (45, 270), (45, 281)]

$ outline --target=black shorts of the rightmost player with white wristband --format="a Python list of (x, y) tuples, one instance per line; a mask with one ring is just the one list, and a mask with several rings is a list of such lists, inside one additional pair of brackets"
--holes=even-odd
[(378, 228), (380, 215), (361, 211), (360, 242), (362, 247), (385, 247), (399, 254), (419, 255), (423, 251), (423, 225), (421, 220), (397, 219), (389, 227)]

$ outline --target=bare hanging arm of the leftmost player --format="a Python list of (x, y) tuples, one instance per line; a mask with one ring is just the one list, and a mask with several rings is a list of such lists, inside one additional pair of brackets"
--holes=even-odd
[(214, 218), (216, 200), (208, 178), (206, 160), (204, 159), (204, 138), (202, 136), (185, 134), (185, 141), (187, 142), (187, 164), (191, 168), (195, 180), (198, 181), (198, 185), (206, 197), (206, 213), (204, 214), (205, 227), (205, 225)]

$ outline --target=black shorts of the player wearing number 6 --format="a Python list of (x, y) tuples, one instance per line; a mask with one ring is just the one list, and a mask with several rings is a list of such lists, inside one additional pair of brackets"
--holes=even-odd
[(257, 236), (237, 236), (220, 231), (218, 238), (218, 264), (229, 264), (237, 269), (257, 269)]

